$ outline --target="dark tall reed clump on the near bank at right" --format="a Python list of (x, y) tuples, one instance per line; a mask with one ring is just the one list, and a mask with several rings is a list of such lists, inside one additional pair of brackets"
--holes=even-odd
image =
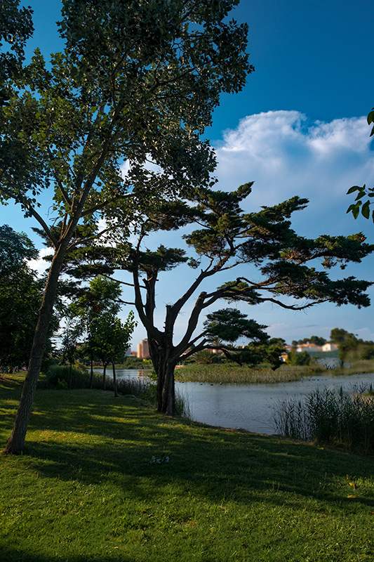
[(283, 436), (366, 453), (374, 450), (374, 400), (363, 394), (317, 389), (304, 401), (281, 401), (274, 421)]

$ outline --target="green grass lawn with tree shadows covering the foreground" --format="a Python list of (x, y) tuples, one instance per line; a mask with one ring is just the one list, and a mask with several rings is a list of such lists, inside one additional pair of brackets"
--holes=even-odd
[[(1, 385), (0, 448), (19, 394)], [(110, 392), (39, 390), (24, 454), (0, 455), (0, 560), (372, 562), (372, 473)]]

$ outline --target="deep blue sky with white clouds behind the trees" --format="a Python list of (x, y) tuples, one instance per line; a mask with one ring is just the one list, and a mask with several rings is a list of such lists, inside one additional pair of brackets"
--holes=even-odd
[[(39, 46), (45, 55), (62, 46), (54, 21), (58, 0), (30, 0), (36, 32), (29, 52)], [(351, 185), (374, 183), (370, 128), (365, 116), (374, 105), (372, 13), (369, 0), (241, 0), (233, 13), (248, 22), (251, 63), (255, 72), (235, 96), (222, 96), (206, 131), (218, 157), (220, 188), (233, 189), (255, 181), (248, 210), (275, 204), (293, 195), (308, 197), (307, 210), (293, 222), (298, 233), (350, 234), (363, 230), (373, 240), (373, 223), (345, 214)], [(0, 208), (0, 223), (15, 230), (34, 226), (11, 206)], [(37, 242), (39, 247), (40, 242)], [(175, 246), (173, 240), (173, 246)], [(373, 257), (347, 270), (349, 275), (373, 279)], [(187, 268), (167, 273), (159, 282), (159, 324), (163, 305), (178, 297)], [(220, 284), (218, 280), (217, 284)], [(374, 291), (370, 291), (374, 298)], [(371, 307), (337, 308), (321, 305), (305, 312), (290, 312), (263, 305), (241, 307), (269, 326), (272, 336), (286, 341), (312, 334), (325, 336), (343, 327), (364, 339), (374, 339)], [(180, 316), (176, 337), (188, 318)], [(123, 311), (123, 316), (128, 310)], [(133, 348), (145, 337), (135, 330)]]

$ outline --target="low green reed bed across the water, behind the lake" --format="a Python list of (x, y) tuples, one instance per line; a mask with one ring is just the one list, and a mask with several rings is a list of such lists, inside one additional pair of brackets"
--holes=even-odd
[[(323, 365), (281, 365), (279, 369), (251, 369), (240, 365), (196, 365), (190, 363), (175, 369), (175, 380), (189, 382), (209, 383), (277, 383), (298, 381), (302, 377), (310, 377), (326, 373)], [(328, 374), (331, 371), (328, 370)]]

